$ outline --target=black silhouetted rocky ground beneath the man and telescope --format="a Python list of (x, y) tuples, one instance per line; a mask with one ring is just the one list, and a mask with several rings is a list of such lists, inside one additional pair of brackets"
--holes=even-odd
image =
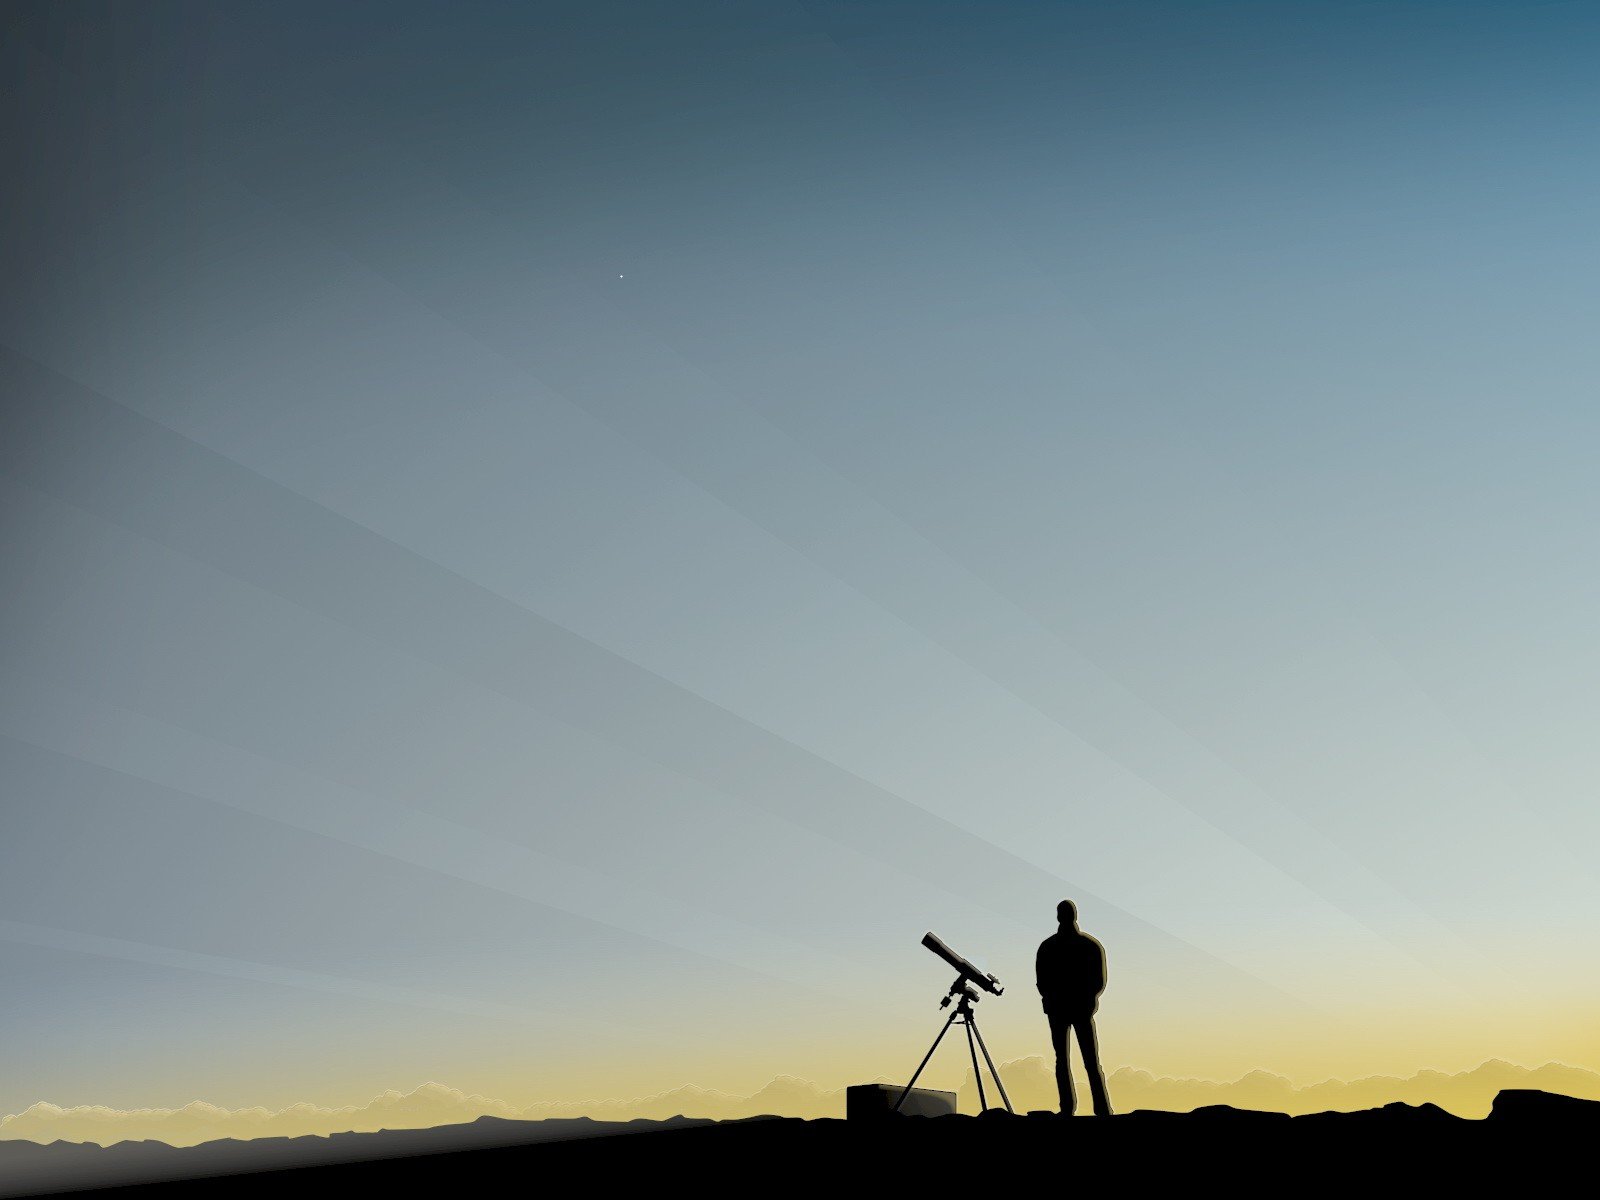
[[(762, 1195), (896, 1187), (926, 1195), (1024, 1190), (1070, 1157), (1101, 1187), (1328, 1195), (1515, 1186), (1565, 1192), (1587, 1178), (1600, 1101), (1502, 1091), (1485, 1120), (1432, 1104), (1286, 1117), (1214, 1107), (1102, 1118), (883, 1117), (606, 1123), (483, 1117), (437, 1130), (267, 1138), (173, 1149), (0, 1142), (0, 1195), (144, 1184), (114, 1195), (658, 1194)], [(227, 1176), (219, 1178), (219, 1176)], [(179, 1181), (182, 1182), (173, 1182)], [(1563, 1181), (1573, 1181), (1570, 1184)]]

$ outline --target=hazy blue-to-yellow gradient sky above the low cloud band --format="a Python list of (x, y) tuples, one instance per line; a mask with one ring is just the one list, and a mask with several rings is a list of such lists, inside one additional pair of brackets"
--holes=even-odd
[(1597, 51), (10, 5), (0, 1112), (1600, 1069)]

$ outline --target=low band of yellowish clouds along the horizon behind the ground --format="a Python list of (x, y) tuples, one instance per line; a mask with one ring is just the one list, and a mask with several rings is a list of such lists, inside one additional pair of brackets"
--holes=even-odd
[[(1002, 1066), (1006, 1090), (1018, 1110), (1053, 1109), (1056, 1085), (1043, 1058)], [(893, 1082), (893, 1080), (878, 1080)], [(1112, 1101), (1120, 1112), (1162, 1109), (1189, 1112), (1214, 1104), (1288, 1114), (1349, 1112), (1386, 1104), (1437, 1104), (1458, 1117), (1483, 1117), (1499, 1091), (1538, 1090), (1579, 1099), (1600, 1099), (1600, 1074), (1547, 1062), (1520, 1067), (1491, 1059), (1472, 1070), (1445, 1074), (1421, 1070), (1406, 1078), (1374, 1075), (1357, 1080), (1325, 1080), (1296, 1086), (1282, 1075), (1256, 1070), (1232, 1082), (1171, 1078), (1123, 1067), (1112, 1072)], [(976, 1107), (976, 1091), (962, 1090), (963, 1109)], [(120, 1141), (162, 1141), (197, 1146), (221, 1138), (299, 1138), (306, 1134), (371, 1133), (459, 1125), (478, 1117), (549, 1120), (589, 1117), (602, 1122), (704, 1117), (736, 1120), (757, 1115), (843, 1117), (845, 1093), (826, 1090), (794, 1075), (779, 1075), (750, 1096), (701, 1086), (682, 1086), (632, 1099), (544, 1101), (515, 1106), (493, 1096), (466, 1093), (443, 1083), (424, 1083), (411, 1091), (386, 1091), (362, 1106), (326, 1107), (309, 1102), (286, 1109), (224, 1109), (194, 1101), (178, 1109), (112, 1109), (106, 1106), (61, 1107), (40, 1101), (22, 1112), (0, 1117), (0, 1139), (35, 1142), (70, 1141), (110, 1146)]]

